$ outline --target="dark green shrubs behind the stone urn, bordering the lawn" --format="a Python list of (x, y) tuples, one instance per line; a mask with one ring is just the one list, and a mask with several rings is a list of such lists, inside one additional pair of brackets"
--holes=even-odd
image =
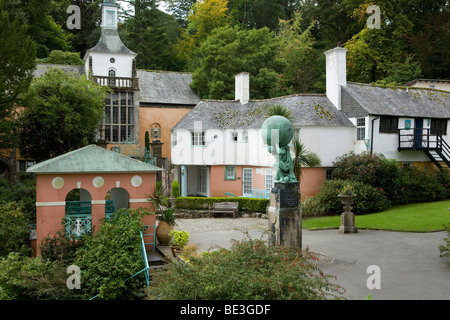
[(446, 170), (402, 169), (381, 154), (353, 152), (338, 157), (334, 165), (336, 180), (326, 182), (320, 193), (303, 203), (305, 216), (341, 213), (338, 194), (344, 184), (351, 185), (356, 193), (353, 212), (357, 214), (450, 198), (450, 173)]

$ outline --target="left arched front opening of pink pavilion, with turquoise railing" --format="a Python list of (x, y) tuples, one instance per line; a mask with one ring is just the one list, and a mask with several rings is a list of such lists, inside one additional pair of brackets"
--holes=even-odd
[(69, 238), (91, 233), (92, 197), (85, 189), (72, 189), (66, 195), (65, 231)]

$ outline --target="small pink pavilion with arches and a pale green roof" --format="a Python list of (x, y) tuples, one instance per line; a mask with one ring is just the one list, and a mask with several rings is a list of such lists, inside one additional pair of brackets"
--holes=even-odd
[[(155, 188), (157, 171), (162, 169), (90, 145), (34, 165), (36, 174), (36, 243), (61, 231), (80, 235), (98, 229), (101, 220), (121, 208), (153, 210), (148, 194)], [(155, 215), (143, 223), (151, 233)], [(148, 232), (146, 232), (148, 233)], [(147, 236), (146, 243), (154, 243)], [(151, 248), (149, 248), (151, 249)]]

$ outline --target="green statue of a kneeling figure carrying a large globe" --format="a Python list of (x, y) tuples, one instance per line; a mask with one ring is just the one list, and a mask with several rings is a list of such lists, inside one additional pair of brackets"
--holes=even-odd
[(294, 136), (292, 123), (285, 117), (272, 116), (264, 121), (261, 129), (263, 140), (269, 145), (269, 152), (275, 151), (275, 155), (278, 155), (278, 161), (275, 165), (277, 169), (275, 182), (298, 182), (294, 174), (294, 164), (289, 147), (289, 143)]

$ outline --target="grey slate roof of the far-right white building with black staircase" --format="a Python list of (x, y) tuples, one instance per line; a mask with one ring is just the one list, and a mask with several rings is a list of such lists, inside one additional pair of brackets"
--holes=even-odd
[(342, 110), (350, 118), (384, 115), (418, 118), (450, 118), (450, 94), (425, 88), (385, 88), (347, 83), (342, 88)]

